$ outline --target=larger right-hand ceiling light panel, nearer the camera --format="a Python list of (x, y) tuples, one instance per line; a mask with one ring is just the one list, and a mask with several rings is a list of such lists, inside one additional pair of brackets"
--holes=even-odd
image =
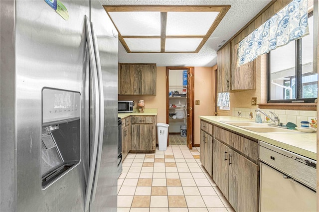
[(167, 12), (166, 35), (205, 35), (219, 12)]

